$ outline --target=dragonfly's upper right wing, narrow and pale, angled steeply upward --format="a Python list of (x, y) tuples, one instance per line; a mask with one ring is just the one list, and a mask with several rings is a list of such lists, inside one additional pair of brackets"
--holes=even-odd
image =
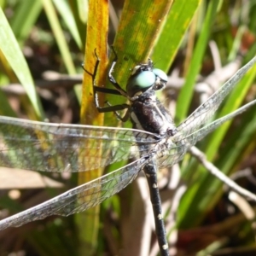
[(220, 103), (223, 102), (224, 97), (230, 93), (230, 90), (235, 87), (236, 83), (247, 73), (247, 70), (252, 67), (255, 62), (256, 57), (249, 61), (247, 65), (241, 67), (231, 79), (207, 99), (207, 102), (201, 104), (199, 108), (195, 109), (195, 112), (191, 113), (187, 119), (178, 125), (177, 131), (180, 131), (183, 137), (187, 137), (200, 128), (201, 125), (207, 123), (213, 113), (218, 109)]

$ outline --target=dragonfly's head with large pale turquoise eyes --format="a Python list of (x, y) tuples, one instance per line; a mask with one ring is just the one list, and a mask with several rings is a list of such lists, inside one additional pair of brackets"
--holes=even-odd
[(167, 75), (159, 68), (154, 68), (153, 61), (133, 68), (126, 85), (128, 96), (134, 97), (147, 90), (161, 90), (166, 86)]

